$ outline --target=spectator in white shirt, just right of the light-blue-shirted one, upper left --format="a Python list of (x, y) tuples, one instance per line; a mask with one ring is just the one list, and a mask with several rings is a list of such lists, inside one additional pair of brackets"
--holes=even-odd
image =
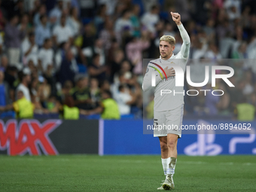
[(57, 46), (67, 41), (71, 42), (73, 37), (72, 29), (66, 25), (66, 15), (60, 17), (60, 24), (53, 29), (53, 42)]

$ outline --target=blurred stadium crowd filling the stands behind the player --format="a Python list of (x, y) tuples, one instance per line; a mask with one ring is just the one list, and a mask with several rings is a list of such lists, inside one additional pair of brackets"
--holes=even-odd
[[(254, 0), (0, 0), (0, 110), (2, 117), (102, 114), (142, 117), (143, 58), (159, 57), (159, 38), (182, 40), (169, 12), (181, 14), (190, 35), (188, 65), (230, 64), (235, 88), (224, 96), (185, 96), (186, 115), (247, 111), (254, 119), (256, 1)], [(197, 60), (197, 62), (194, 62)], [(227, 63), (225, 64), (227, 66)], [(196, 70), (197, 71), (197, 70)], [(194, 76), (197, 76), (195, 73)], [(185, 90), (195, 87), (186, 85)], [(212, 87), (209, 87), (212, 89)], [(112, 99), (111, 99), (112, 98)], [(150, 98), (150, 96), (148, 96)], [(146, 108), (152, 115), (153, 105)], [(248, 112), (249, 111), (249, 112)]]

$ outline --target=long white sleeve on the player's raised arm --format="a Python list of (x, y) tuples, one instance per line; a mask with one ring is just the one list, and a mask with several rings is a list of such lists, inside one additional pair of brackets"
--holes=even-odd
[(182, 45), (181, 45), (181, 55), (185, 58), (188, 59), (189, 56), (189, 49), (190, 49), (190, 38), (189, 35), (187, 34), (186, 29), (184, 28), (184, 26), (181, 24), (180, 26), (178, 26), (178, 30), (181, 34), (181, 38), (182, 38)]

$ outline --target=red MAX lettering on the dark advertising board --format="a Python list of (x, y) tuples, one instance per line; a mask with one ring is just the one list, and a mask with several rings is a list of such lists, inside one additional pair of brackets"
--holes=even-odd
[(53, 130), (62, 123), (61, 120), (46, 120), (40, 123), (38, 120), (8, 120), (4, 123), (0, 120), (0, 150), (7, 149), (10, 155), (44, 154), (56, 155), (58, 151), (48, 137)]

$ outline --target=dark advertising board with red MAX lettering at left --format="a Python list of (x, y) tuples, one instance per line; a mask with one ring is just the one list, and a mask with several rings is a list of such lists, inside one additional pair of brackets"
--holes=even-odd
[(99, 120), (0, 120), (0, 154), (98, 154)]

